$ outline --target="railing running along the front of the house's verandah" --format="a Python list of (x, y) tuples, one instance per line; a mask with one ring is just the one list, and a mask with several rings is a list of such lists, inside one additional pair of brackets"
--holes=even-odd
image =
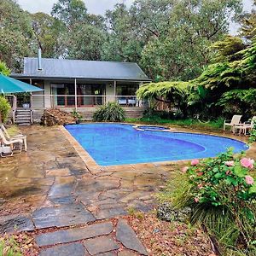
[(102, 106), (107, 102), (117, 102), (122, 107), (148, 107), (148, 102), (140, 101), (137, 96), (32, 94), (31, 108), (89, 108)]

